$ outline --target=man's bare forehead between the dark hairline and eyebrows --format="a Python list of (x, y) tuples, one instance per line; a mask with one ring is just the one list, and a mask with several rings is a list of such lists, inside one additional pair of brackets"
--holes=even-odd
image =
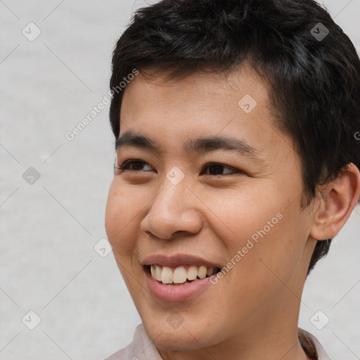
[(275, 126), (269, 86), (250, 67), (174, 79), (167, 79), (166, 72), (152, 75), (140, 74), (127, 85), (120, 138), (132, 131), (151, 138), (160, 150), (184, 153), (193, 139), (204, 136), (243, 140), (268, 156), (284, 146), (293, 150), (293, 141)]

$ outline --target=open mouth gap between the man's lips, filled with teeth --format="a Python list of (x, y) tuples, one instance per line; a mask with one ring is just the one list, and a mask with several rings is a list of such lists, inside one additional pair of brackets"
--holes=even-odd
[(166, 285), (185, 285), (217, 274), (218, 267), (205, 265), (162, 266), (151, 264), (144, 266), (145, 271), (159, 283)]

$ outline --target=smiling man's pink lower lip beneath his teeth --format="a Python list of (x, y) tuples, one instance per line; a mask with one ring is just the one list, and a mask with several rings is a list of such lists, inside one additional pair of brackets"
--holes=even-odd
[(145, 269), (148, 287), (161, 301), (186, 301), (198, 297), (210, 285), (210, 277), (198, 279), (184, 285), (167, 285), (152, 278)]

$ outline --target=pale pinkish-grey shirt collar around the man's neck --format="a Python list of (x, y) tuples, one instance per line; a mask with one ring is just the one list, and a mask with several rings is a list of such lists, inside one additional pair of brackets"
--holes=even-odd
[[(314, 335), (299, 329), (299, 341), (310, 359), (330, 360)], [(162, 357), (148, 337), (143, 324), (140, 324), (135, 329), (134, 338), (130, 344), (105, 360), (162, 360)]]

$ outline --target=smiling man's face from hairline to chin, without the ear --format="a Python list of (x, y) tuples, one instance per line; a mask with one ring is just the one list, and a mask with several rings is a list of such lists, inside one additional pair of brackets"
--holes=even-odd
[(311, 213), (268, 87), (245, 66), (164, 76), (124, 91), (105, 215), (143, 326), (162, 351), (254, 341), (264, 323), (296, 329)]

